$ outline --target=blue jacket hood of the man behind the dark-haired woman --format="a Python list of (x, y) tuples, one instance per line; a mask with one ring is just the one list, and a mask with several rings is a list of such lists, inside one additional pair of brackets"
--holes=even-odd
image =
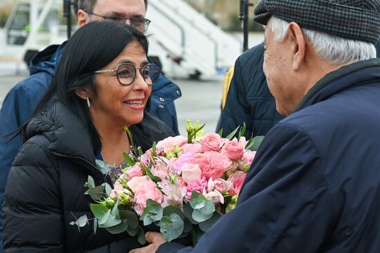
[(54, 75), (55, 70), (61, 60), (62, 52), (66, 42), (61, 45), (51, 45), (37, 53), (30, 61), (30, 75), (46, 71), (50, 75)]

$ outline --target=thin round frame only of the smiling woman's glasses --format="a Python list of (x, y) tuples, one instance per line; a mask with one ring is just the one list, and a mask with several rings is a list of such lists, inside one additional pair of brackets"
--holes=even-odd
[[(129, 83), (126, 83), (126, 84), (124, 84), (122, 81), (120, 81), (120, 79), (124, 78), (124, 77), (120, 77), (120, 74), (119, 74), (120, 68), (122, 68), (122, 66), (133, 66), (133, 68), (135, 68), (135, 73), (133, 73), (132, 81)], [(149, 77), (144, 77), (144, 71), (146, 70), (146, 68), (152, 68), (152, 67), (154, 68), (153, 71), (155, 71), (155, 73), (149, 73)], [(142, 67), (136, 67), (135, 65), (130, 64), (130, 63), (122, 63), (122, 64), (117, 65), (117, 67), (115, 69), (110, 69), (110, 70), (106, 70), (106, 71), (95, 71), (94, 73), (98, 74), (98, 73), (113, 73), (113, 72), (115, 72), (117, 81), (124, 86), (129, 86), (133, 82), (135, 82), (137, 69), (139, 70), (138, 72), (140, 73), (140, 75), (144, 79), (145, 83), (148, 84), (149, 86), (152, 86), (153, 84), (155, 84), (158, 81), (158, 78), (160, 77), (161, 71), (160, 71), (160, 67), (157, 64), (146, 64), (145, 66), (142, 66)], [(152, 78), (151, 75), (156, 75), (156, 76), (155, 76), (155, 78)], [(152, 81), (151, 84), (149, 84), (149, 82), (146, 82), (146, 78), (151, 79), (151, 81)]]

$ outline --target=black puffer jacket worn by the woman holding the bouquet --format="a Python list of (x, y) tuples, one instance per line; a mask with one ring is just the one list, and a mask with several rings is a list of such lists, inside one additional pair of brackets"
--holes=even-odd
[[(138, 133), (141, 130), (146, 135)], [(153, 140), (173, 135), (169, 127), (151, 115), (145, 115), (144, 122), (133, 127), (132, 133), (135, 144), (145, 148)], [(88, 175), (97, 185), (109, 182), (108, 176), (95, 167), (86, 125), (77, 115), (55, 104), (32, 119), (27, 138), (13, 162), (6, 186), (5, 252), (125, 253), (140, 246), (126, 233), (113, 235), (98, 228), (94, 234), (92, 221), (80, 232), (77, 226), (69, 225), (75, 217), (93, 217), (88, 205), (92, 200), (84, 195)]]

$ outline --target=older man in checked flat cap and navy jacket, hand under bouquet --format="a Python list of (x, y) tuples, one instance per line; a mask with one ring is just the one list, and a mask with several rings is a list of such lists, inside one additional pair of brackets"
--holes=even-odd
[(196, 247), (149, 233), (141, 252), (380, 252), (379, 12), (379, 0), (260, 1), (263, 69), (287, 118)]

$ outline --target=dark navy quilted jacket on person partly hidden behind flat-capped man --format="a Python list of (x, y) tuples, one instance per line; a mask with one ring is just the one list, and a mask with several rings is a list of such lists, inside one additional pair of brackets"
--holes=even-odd
[(225, 109), (220, 114), (216, 132), (228, 135), (236, 127), (247, 125), (245, 136), (265, 135), (283, 119), (276, 111), (276, 101), (269, 92), (263, 73), (264, 44), (250, 48), (235, 63)]

